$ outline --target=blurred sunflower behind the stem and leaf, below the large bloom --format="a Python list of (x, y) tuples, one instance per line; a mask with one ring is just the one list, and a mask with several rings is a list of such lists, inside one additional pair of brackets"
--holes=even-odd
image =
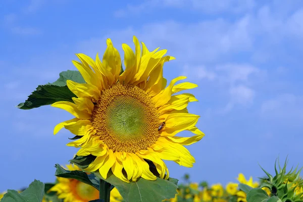
[[(66, 165), (67, 170), (80, 170), (76, 165)], [(58, 183), (49, 191), (57, 192), (58, 198), (64, 202), (87, 202), (99, 198), (99, 191), (91, 185), (85, 184), (76, 179), (57, 177)], [(110, 200), (114, 202), (122, 201), (119, 191), (114, 188), (111, 191)]]

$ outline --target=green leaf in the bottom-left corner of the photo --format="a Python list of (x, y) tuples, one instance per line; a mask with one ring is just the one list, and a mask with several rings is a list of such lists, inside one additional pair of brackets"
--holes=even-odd
[(22, 193), (8, 190), (1, 202), (41, 202), (44, 195), (44, 184), (34, 180)]

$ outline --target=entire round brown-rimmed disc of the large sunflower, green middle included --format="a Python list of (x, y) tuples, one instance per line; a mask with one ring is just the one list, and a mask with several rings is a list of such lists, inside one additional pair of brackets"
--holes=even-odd
[(91, 122), (113, 151), (133, 152), (147, 149), (159, 137), (159, 115), (154, 103), (142, 89), (117, 83), (102, 92)]

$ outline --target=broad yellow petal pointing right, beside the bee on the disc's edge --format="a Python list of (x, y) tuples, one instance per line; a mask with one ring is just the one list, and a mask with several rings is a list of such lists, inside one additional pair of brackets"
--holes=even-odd
[[(174, 136), (178, 132), (195, 126), (200, 116), (188, 113), (174, 113), (168, 115), (162, 132), (168, 136)], [(162, 133), (161, 133), (162, 134)]]

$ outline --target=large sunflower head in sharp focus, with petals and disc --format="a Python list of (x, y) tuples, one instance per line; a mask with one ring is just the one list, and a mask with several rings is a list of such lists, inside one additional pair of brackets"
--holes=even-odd
[[(73, 64), (86, 83), (67, 80), (68, 88), (77, 97), (73, 97), (73, 103), (61, 101), (52, 106), (76, 118), (59, 123), (54, 134), (64, 127), (81, 137), (67, 145), (80, 147), (78, 156), (95, 157), (85, 168), (87, 172), (98, 171), (106, 179), (111, 170), (124, 182), (136, 181), (139, 177), (156, 180), (149, 169), (153, 166), (161, 178), (168, 179), (163, 160), (192, 167), (195, 160), (183, 145), (204, 136), (195, 127), (199, 116), (189, 114), (186, 109), (189, 102), (197, 99), (189, 93), (175, 94), (197, 85), (190, 82), (175, 85), (186, 78), (180, 76), (166, 87), (163, 65), (174, 58), (164, 56), (165, 49), (149, 52), (143, 42), (141, 49), (135, 36), (133, 41), (135, 52), (122, 44), (123, 73), (119, 52), (111, 39), (107, 39), (102, 62), (98, 54), (95, 60), (76, 54), (81, 62), (73, 61)], [(184, 130), (194, 135), (175, 136)]]

